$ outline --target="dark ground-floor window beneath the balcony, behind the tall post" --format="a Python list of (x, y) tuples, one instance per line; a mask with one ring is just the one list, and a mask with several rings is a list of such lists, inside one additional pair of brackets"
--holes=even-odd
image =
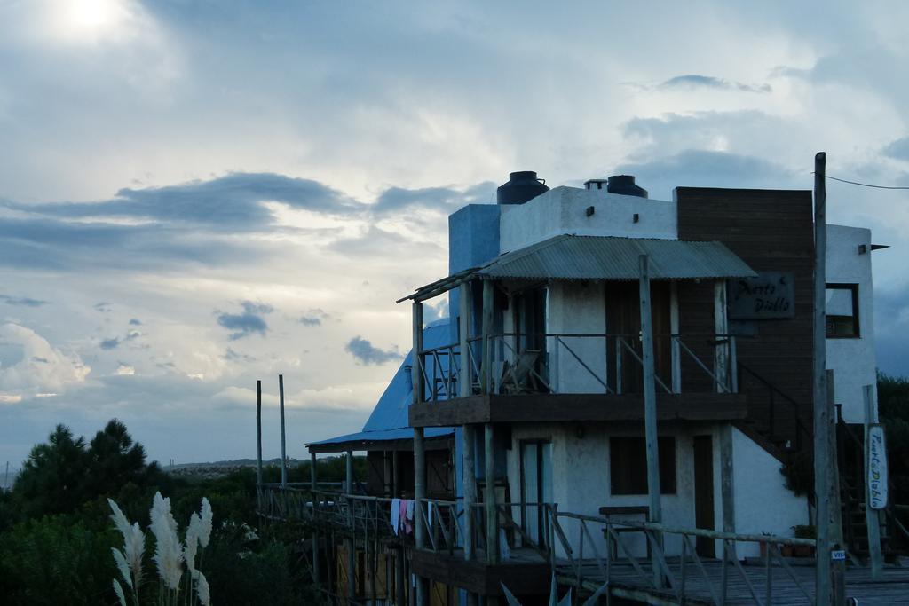
[[(660, 492), (675, 494), (675, 438), (660, 436)], [(644, 438), (609, 439), (610, 488), (613, 494), (647, 493), (647, 450)]]

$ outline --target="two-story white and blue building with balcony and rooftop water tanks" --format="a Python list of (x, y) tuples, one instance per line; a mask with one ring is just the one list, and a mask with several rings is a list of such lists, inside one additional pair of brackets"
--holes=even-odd
[[(413, 304), (413, 351), (365, 431), (309, 446), (366, 451), (374, 496), (415, 499), (414, 537), (382, 568), (397, 591), (370, 601), (475, 603), (503, 583), (543, 595), (560, 561), (582, 588), (574, 562), (594, 554), (671, 576), (673, 559), (764, 550), (722, 532), (812, 523), (811, 495), (781, 472), (813, 442), (812, 194), (673, 197), (627, 175), (549, 189), (524, 172), (498, 204), (449, 217), (449, 275), (399, 302)], [(866, 229), (826, 230), (827, 367), (841, 419), (862, 423), (876, 246)], [(424, 326), (423, 303), (443, 295), (450, 319)]]

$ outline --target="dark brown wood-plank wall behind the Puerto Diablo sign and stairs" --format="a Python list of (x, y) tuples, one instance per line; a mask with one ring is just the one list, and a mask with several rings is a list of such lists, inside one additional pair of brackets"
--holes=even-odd
[[(810, 191), (734, 190), (679, 187), (678, 230), (682, 240), (718, 240), (756, 272), (794, 273), (795, 316), (788, 320), (755, 321), (754, 339), (738, 339), (738, 360), (753, 369), (798, 407), (774, 398), (774, 434), (794, 440), (796, 414), (810, 427), (814, 365), (814, 211)], [(679, 289), (681, 333), (714, 329), (713, 291), (706, 283), (685, 283)], [(711, 359), (707, 343), (694, 343)], [(693, 348), (694, 348), (693, 347)], [(692, 369), (683, 369), (691, 377)], [(684, 384), (683, 390), (695, 384)], [(768, 390), (747, 375), (749, 416), (755, 426), (769, 429)]]

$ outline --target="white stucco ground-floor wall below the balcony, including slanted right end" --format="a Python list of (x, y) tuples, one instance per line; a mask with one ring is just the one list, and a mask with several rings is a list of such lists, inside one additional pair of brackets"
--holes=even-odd
[[(675, 493), (662, 495), (663, 522), (669, 526), (694, 528), (694, 436), (710, 435), (714, 447), (714, 530), (723, 530), (723, 495), (720, 476), (719, 423), (665, 423), (660, 435), (675, 438)], [(793, 526), (808, 523), (808, 506), (804, 497), (796, 497), (785, 488), (780, 462), (764, 451), (743, 432), (731, 428), (733, 441), (733, 494), (735, 530), (743, 533), (772, 533), (793, 536)], [(642, 435), (639, 424), (633, 423), (520, 423), (512, 427), (512, 449), (507, 452), (508, 482), (511, 501), (521, 500), (520, 453), (521, 442), (542, 440), (552, 443), (553, 500), (559, 511), (599, 515), (603, 506), (647, 506), (646, 494), (612, 495), (610, 491), (609, 440), (613, 436)], [(512, 512), (520, 522), (520, 510)], [(642, 516), (633, 516), (634, 519)], [(577, 550), (579, 525), (562, 519), (565, 536)], [(604, 554), (602, 526), (591, 523), (596, 549)], [(635, 555), (646, 552), (644, 536), (628, 533), (624, 544)], [(585, 551), (590, 551), (585, 538)], [(669, 555), (681, 552), (681, 540), (676, 535), (664, 537)], [(564, 556), (556, 541), (556, 550)], [(717, 543), (716, 552), (720, 545)], [(738, 557), (760, 553), (757, 543), (739, 543)]]

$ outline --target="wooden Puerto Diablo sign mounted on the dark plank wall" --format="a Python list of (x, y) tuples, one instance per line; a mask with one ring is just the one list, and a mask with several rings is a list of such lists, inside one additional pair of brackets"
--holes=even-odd
[(761, 272), (756, 278), (729, 281), (729, 317), (774, 320), (795, 317), (792, 272)]

